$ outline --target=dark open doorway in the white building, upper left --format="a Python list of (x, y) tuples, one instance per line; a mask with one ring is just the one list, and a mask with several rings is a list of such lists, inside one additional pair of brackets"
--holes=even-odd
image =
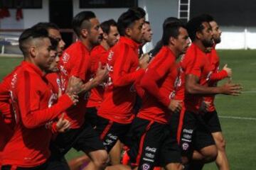
[[(72, 0), (50, 0), (49, 1), (50, 22), (58, 25), (60, 29), (72, 28), (73, 1)], [(73, 33), (64, 31), (61, 33), (68, 47), (73, 42)]]

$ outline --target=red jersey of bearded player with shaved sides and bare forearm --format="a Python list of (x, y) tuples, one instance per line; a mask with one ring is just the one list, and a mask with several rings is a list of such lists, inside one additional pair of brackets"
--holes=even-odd
[[(84, 83), (89, 81), (90, 52), (81, 41), (75, 42), (63, 52), (59, 62), (62, 91), (68, 86), (68, 79), (72, 76), (80, 78)], [(76, 106), (68, 109), (67, 120), (71, 123), (71, 128), (80, 128), (85, 122), (85, 106), (87, 102), (86, 94), (79, 96)]]

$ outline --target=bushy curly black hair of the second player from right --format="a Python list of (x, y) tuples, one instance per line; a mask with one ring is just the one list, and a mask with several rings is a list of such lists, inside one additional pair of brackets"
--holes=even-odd
[(188, 23), (186, 24), (186, 28), (188, 30), (189, 38), (191, 38), (191, 41), (194, 41), (196, 39), (196, 33), (198, 31), (203, 30), (203, 23), (208, 23), (208, 20), (205, 16), (196, 16), (192, 18)]

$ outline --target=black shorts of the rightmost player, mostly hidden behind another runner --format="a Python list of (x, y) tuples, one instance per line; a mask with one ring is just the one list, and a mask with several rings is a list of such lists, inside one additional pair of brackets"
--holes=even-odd
[(218, 113), (216, 111), (204, 113), (203, 120), (205, 121), (211, 133), (222, 131), (220, 126), (220, 120), (218, 118)]

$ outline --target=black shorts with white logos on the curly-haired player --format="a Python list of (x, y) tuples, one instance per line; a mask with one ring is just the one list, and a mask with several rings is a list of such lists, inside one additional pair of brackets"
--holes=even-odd
[(215, 145), (202, 115), (189, 111), (185, 111), (180, 142), (181, 154), (188, 158), (192, 157), (194, 149), (200, 150)]

